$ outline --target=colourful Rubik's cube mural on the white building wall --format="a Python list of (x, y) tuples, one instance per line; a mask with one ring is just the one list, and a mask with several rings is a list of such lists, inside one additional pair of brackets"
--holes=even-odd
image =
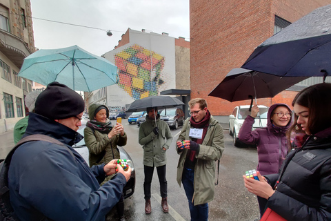
[(134, 100), (159, 95), (159, 88), (170, 79), (162, 75), (165, 57), (134, 44), (114, 55), (119, 86)]

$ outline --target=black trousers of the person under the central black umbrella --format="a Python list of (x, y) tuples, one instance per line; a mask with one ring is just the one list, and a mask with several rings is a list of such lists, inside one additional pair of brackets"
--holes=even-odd
[[(150, 185), (152, 183), (152, 177), (154, 172), (154, 166), (143, 166), (143, 172), (145, 173), (145, 181), (143, 182), (143, 193), (145, 193), (145, 200), (150, 199)], [(165, 177), (166, 165), (157, 166), (157, 175), (160, 182), (160, 195), (162, 198), (168, 196), (168, 182)]]

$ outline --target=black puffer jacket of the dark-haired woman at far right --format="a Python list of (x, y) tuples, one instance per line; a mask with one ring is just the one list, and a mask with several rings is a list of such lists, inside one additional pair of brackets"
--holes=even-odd
[(279, 180), (267, 205), (286, 220), (331, 220), (331, 128), (292, 150), (280, 175), (265, 177)]

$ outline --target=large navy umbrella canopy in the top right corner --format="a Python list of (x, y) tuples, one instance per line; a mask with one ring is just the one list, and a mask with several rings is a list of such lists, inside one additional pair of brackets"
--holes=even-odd
[(242, 68), (279, 76), (331, 73), (331, 5), (314, 10), (258, 46)]

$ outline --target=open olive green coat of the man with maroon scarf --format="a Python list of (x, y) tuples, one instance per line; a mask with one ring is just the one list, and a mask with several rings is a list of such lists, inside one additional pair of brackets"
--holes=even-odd
[[(192, 125), (190, 124), (190, 118), (188, 118), (185, 120), (181, 129), (181, 134), (178, 137), (179, 141), (191, 140), (189, 137), (190, 128), (192, 128)], [(197, 157), (197, 163), (194, 169), (194, 193), (192, 199), (194, 205), (204, 204), (214, 200), (215, 161), (221, 158), (223, 150), (223, 128), (214, 117), (210, 116), (208, 131), (195, 156)], [(179, 152), (177, 148), (177, 153), (180, 155), (177, 166), (177, 182), (181, 186), (181, 178), (188, 149)]]

